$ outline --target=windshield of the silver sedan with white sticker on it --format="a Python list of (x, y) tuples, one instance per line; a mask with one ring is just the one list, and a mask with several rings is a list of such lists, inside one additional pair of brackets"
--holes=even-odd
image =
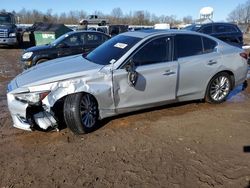
[(86, 56), (86, 59), (100, 65), (108, 65), (120, 59), (141, 38), (118, 35)]

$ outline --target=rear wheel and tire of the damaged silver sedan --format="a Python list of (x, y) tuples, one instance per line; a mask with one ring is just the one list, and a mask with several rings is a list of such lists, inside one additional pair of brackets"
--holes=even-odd
[(226, 100), (232, 90), (232, 79), (226, 72), (216, 74), (209, 82), (205, 100), (208, 103), (219, 104)]

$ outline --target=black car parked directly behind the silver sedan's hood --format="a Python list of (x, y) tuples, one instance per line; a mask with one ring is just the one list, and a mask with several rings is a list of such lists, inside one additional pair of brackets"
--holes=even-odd
[(95, 31), (68, 32), (47, 45), (34, 46), (26, 49), (21, 57), (24, 68), (30, 68), (42, 62), (58, 57), (84, 53), (87, 55), (110, 36)]

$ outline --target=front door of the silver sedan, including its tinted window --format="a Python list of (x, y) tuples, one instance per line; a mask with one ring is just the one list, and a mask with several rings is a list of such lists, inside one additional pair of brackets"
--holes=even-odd
[[(175, 100), (178, 64), (172, 61), (172, 37), (155, 38), (138, 49), (113, 72), (114, 99), (118, 113)], [(138, 74), (135, 86), (128, 81), (125, 67), (133, 62)]]

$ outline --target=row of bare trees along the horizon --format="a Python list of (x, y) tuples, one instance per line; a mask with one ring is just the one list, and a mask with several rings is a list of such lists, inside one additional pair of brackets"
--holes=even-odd
[[(0, 12), (6, 12), (2, 9)], [(33, 24), (35, 22), (49, 22), (49, 23), (64, 23), (64, 24), (79, 24), (81, 19), (87, 18), (87, 14), (84, 10), (69, 11), (67, 13), (53, 13), (52, 9), (48, 9), (46, 12), (39, 10), (26, 10), (21, 9), (18, 12), (12, 11), (17, 17), (18, 22), (23, 24)], [(128, 24), (128, 25), (154, 25), (156, 23), (169, 23), (171, 26), (175, 26), (179, 23), (190, 24), (193, 22), (191, 16), (185, 16), (182, 19), (178, 19), (175, 15), (161, 15), (156, 16), (148, 11), (138, 10), (130, 11), (129, 13), (123, 13), (121, 8), (114, 8), (110, 14), (104, 14), (101, 11), (95, 11), (93, 15), (98, 15), (100, 18), (106, 18), (111, 24)]]

